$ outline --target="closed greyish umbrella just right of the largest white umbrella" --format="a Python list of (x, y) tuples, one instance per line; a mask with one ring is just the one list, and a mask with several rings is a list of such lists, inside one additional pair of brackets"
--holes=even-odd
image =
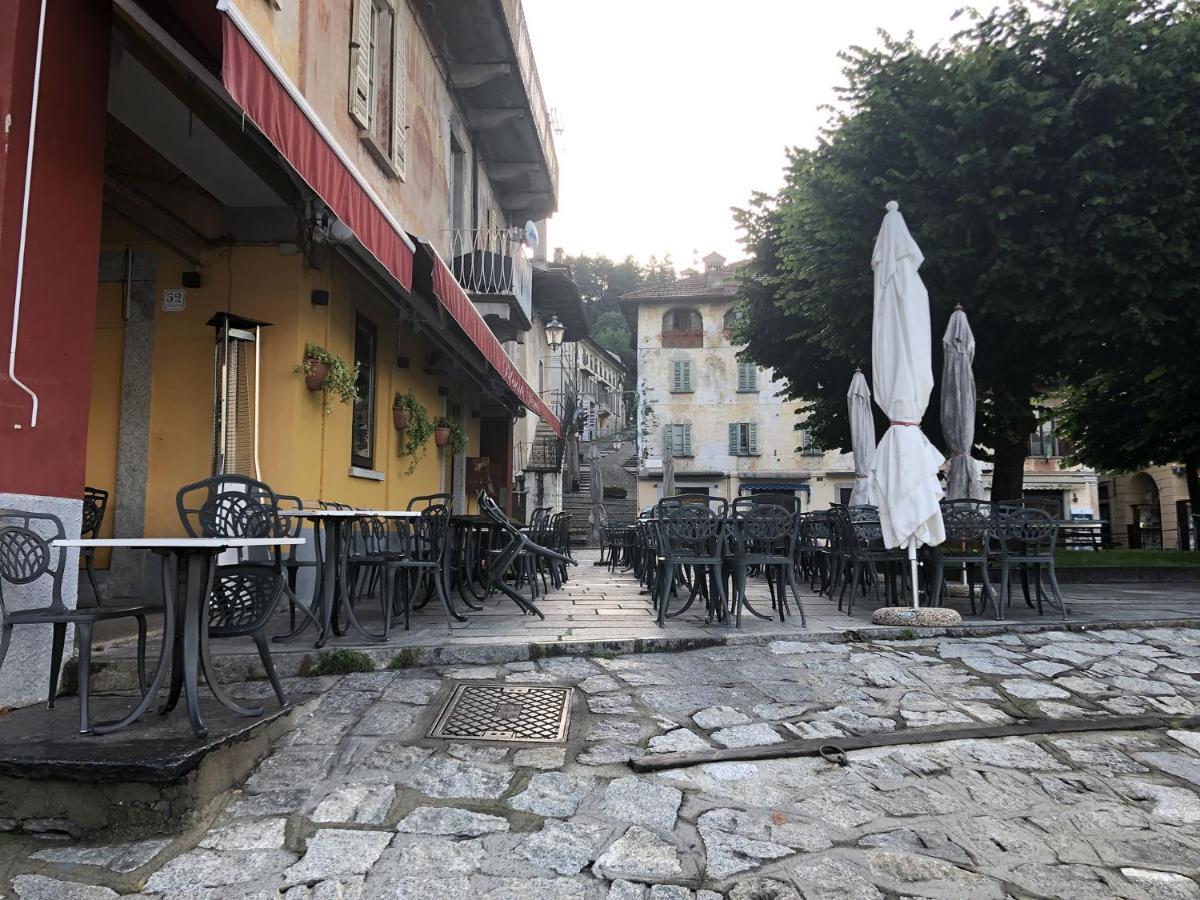
[(974, 335), (962, 306), (955, 306), (942, 337), (942, 434), (950, 449), (946, 496), (952, 500), (982, 500), (979, 463), (971, 456), (974, 444), (976, 389)]

